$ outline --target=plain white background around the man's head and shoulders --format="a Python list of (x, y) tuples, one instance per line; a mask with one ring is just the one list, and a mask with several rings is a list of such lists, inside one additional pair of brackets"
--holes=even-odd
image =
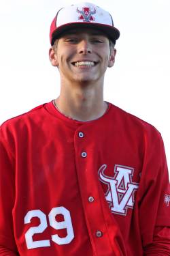
[[(58, 71), (48, 59), (49, 29), (59, 8), (80, 1), (0, 0), (0, 124), (59, 94)], [(155, 126), (170, 167), (170, 1), (92, 1), (120, 30), (105, 100)]]

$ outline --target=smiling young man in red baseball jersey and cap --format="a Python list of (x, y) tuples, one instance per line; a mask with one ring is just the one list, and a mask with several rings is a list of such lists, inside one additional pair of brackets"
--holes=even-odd
[(52, 21), (60, 95), (1, 126), (0, 255), (170, 255), (160, 133), (103, 101), (119, 35), (92, 3)]

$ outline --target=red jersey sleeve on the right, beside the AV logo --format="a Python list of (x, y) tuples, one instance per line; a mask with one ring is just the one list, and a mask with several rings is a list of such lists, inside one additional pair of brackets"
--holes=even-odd
[[(157, 228), (170, 227), (169, 173), (165, 147), (159, 132), (154, 132), (151, 138), (146, 137), (139, 197), (141, 239), (143, 247), (147, 248), (155, 242), (154, 232)], [(167, 243), (169, 242), (167, 232)], [(158, 241), (156, 244), (158, 245)], [(167, 246), (169, 247), (169, 244)]]

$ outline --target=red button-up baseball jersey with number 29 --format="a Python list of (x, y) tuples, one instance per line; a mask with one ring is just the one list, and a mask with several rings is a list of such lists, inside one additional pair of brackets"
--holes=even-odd
[(0, 255), (143, 256), (170, 226), (160, 133), (113, 104), (90, 122), (38, 106), (0, 145)]

